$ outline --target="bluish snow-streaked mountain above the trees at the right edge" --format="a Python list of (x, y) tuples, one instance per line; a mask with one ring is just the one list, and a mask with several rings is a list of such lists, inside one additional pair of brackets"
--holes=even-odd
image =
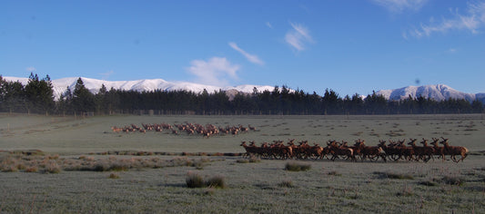
[(379, 95), (383, 95), (388, 100), (406, 99), (409, 97), (409, 95), (412, 98), (416, 98), (416, 97), (419, 97), (420, 95), (424, 98), (430, 98), (435, 101), (443, 101), (443, 100), (448, 100), (450, 98), (453, 98), (453, 99), (465, 99), (469, 102), (473, 102), (475, 99), (478, 99), (479, 101), (485, 103), (485, 93), (459, 92), (445, 84), (408, 86), (408, 87), (399, 88), (399, 89), (380, 90), (379, 92), (376, 92), (376, 93)]

